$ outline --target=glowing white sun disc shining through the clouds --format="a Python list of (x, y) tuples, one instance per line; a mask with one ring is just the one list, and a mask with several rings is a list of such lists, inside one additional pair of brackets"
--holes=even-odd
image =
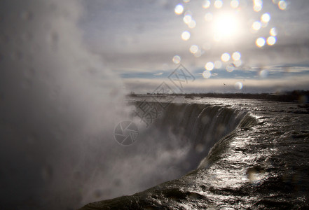
[(215, 41), (221, 41), (222, 38), (234, 38), (240, 33), (240, 20), (233, 13), (220, 13), (214, 17), (212, 30)]

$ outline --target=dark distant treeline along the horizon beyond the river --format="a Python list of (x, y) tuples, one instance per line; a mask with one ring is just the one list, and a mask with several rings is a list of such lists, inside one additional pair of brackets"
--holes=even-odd
[[(174, 94), (151, 94), (147, 93), (148, 96), (167, 96), (167, 95), (176, 95), (184, 96), (186, 98), (193, 97), (214, 97), (214, 98), (229, 98), (229, 99), (265, 99), (275, 102), (301, 102), (308, 103), (309, 101), (309, 90), (293, 90), (289, 92), (280, 92), (280, 93), (174, 93)], [(130, 97), (142, 97), (146, 96), (145, 94), (135, 94), (131, 92)]]

